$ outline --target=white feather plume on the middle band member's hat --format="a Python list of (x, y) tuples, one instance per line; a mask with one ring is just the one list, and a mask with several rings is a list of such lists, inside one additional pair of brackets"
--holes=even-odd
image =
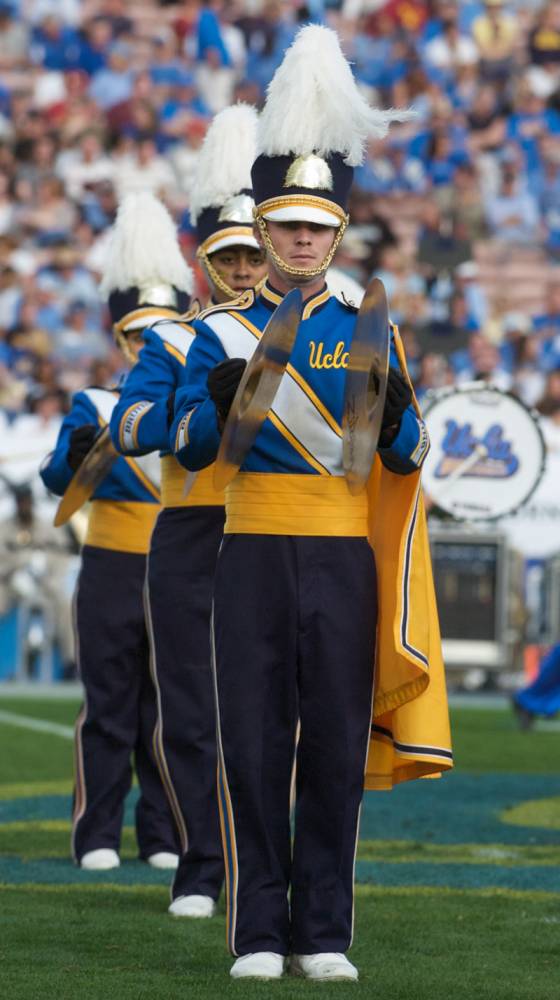
[(257, 155), (258, 114), (249, 104), (224, 108), (213, 119), (200, 150), (191, 195), (191, 221), (205, 208), (218, 208), (251, 188)]

